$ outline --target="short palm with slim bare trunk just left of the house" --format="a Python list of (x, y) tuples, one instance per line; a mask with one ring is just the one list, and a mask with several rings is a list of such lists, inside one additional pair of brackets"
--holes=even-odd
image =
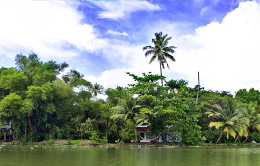
[(126, 94), (123, 99), (120, 99), (120, 103), (118, 106), (113, 107), (117, 111), (117, 113), (111, 116), (111, 119), (130, 119), (134, 124), (134, 135), (135, 142), (138, 142), (137, 132), (135, 127), (134, 117), (139, 116), (139, 109), (142, 108), (140, 105), (136, 105), (136, 101), (134, 100), (132, 95)]

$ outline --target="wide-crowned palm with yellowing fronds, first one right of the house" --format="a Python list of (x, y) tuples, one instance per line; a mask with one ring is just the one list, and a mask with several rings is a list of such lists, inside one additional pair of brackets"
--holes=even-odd
[(229, 99), (225, 103), (224, 108), (219, 105), (215, 105), (214, 107), (216, 111), (211, 110), (205, 112), (205, 114), (215, 120), (209, 123), (210, 128), (215, 126), (216, 129), (221, 129), (221, 134), (215, 144), (218, 143), (224, 132), (227, 133), (227, 139), (229, 135), (235, 138), (236, 133), (238, 133), (239, 136), (248, 135), (247, 126), (249, 119), (244, 117), (242, 111), (238, 109), (238, 103)]

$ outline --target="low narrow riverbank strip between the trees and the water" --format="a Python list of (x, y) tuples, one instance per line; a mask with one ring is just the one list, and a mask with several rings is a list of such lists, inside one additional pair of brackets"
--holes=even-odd
[[(73, 143), (77, 142), (77, 143)], [(243, 146), (243, 145), (260, 145), (260, 143), (237, 143), (237, 144), (202, 144), (197, 146), (188, 146), (183, 144), (135, 144), (135, 143), (125, 143), (125, 144), (100, 144), (100, 143), (88, 143), (88, 141), (77, 141), (77, 140), (56, 140), (52, 142), (42, 141), (33, 143), (21, 143), (21, 142), (0, 142), (0, 145), (76, 145), (76, 146), (97, 146), (97, 147), (209, 147), (209, 146)]]

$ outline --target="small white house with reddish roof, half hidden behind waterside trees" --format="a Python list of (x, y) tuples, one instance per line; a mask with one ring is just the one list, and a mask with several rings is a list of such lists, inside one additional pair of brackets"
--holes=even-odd
[[(149, 131), (148, 125), (141, 125), (141, 126), (135, 126), (140, 133), (140, 143), (150, 143), (153, 140), (156, 140), (157, 142), (181, 142), (181, 135), (178, 133), (178, 131), (175, 132), (162, 132), (160, 135), (158, 135), (156, 138), (153, 138), (152, 132)], [(163, 137), (164, 135), (164, 137)]]

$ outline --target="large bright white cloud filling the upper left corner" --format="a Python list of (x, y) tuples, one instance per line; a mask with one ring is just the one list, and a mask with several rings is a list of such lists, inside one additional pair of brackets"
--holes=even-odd
[[(69, 1), (0, 1), (0, 55), (13, 50), (41, 56), (71, 57), (105, 45), (92, 25), (83, 24), (78, 3)], [(71, 47), (73, 49), (71, 49)], [(69, 51), (67, 51), (69, 48)], [(8, 54), (9, 53), (9, 54)]]

